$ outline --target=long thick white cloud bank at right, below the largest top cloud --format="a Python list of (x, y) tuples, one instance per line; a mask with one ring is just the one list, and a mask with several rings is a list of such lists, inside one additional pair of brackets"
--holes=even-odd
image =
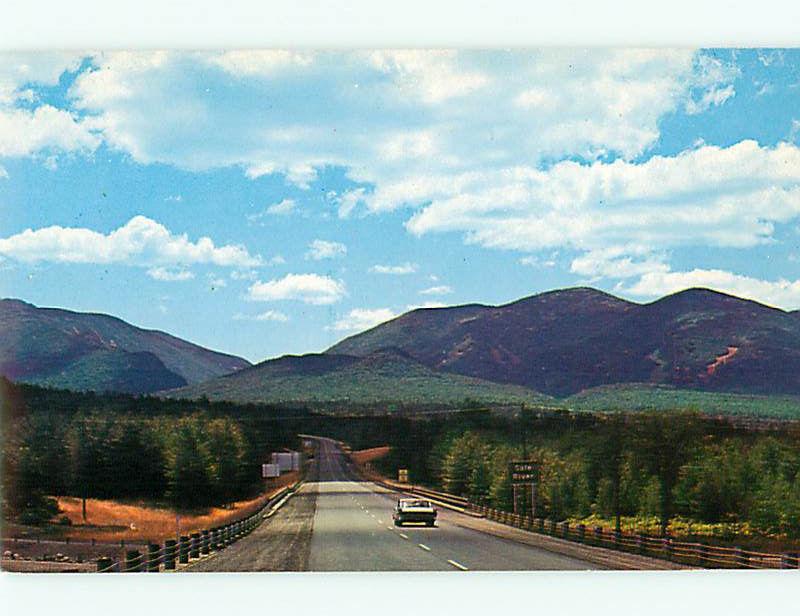
[(747, 248), (772, 241), (777, 224), (800, 215), (800, 148), (786, 143), (430, 181), (450, 185), (412, 216), (412, 233), (460, 231), (470, 243), (531, 252), (613, 248), (619, 258), (643, 248)]

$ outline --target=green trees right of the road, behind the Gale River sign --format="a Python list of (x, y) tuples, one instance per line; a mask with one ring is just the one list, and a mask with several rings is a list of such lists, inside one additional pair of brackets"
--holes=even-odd
[[(575, 422), (530, 416), (439, 426), (409, 448), (397, 443), (383, 469), (411, 468), (412, 481), (512, 511), (509, 463), (536, 464), (537, 516), (562, 521), (657, 517), (746, 524), (800, 538), (800, 439), (796, 429), (752, 433), (692, 412), (625, 413)], [(517, 507), (531, 511), (530, 491)]]

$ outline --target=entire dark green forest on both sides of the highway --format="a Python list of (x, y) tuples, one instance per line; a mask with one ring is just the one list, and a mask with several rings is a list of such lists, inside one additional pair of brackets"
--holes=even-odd
[[(318, 414), (304, 408), (3, 387), (3, 516), (50, 520), (49, 496), (197, 509), (252, 496), (299, 433), (391, 445), (379, 470), (512, 510), (509, 462), (538, 469), (537, 516), (653, 534), (800, 539), (800, 430), (690, 411)], [(530, 511), (530, 493), (517, 506)]]

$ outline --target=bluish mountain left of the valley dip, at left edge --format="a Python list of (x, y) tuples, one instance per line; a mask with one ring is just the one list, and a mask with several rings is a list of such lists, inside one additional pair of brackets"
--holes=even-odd
[(152, 393), (250, 362), (105, 314), (0, 300), (0, 375), (63, 389)]

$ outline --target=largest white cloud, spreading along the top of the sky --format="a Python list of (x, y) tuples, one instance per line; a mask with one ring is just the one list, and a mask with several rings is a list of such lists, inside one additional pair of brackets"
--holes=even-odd
[(735, 77), (684, 49), (115, 52), (93, 61), (70, 95), (112, 147), (139, 162), (238, 165), (304, 187), (319, 169), (342, 166), (375, 186), (346, 193), (343, 217), (358, 203), (377, 211), (454, 197), (463, 174), (564, 155), (632, 159), (656, 143), (665, 114), (721, 103)]

